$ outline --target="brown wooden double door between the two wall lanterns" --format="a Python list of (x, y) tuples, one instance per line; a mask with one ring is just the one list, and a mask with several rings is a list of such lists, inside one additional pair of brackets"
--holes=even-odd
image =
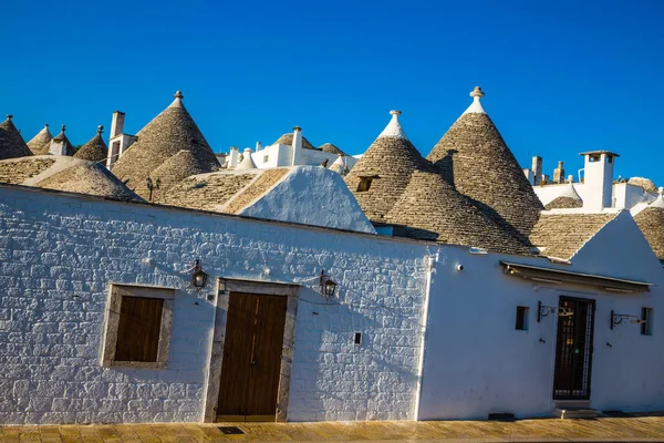
[(288, 297), (231, 292), (218, 421), (274, 421)]

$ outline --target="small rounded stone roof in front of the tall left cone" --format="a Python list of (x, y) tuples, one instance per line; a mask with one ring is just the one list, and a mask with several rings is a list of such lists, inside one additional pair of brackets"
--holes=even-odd
[(203, 158), (191, 151), (178, 152), (149, 174), (153, 184), (156, 184), (157, 179), (159, 181), (159, 188), (153, 192), (153, 202), (160, 203), (167, 198), (170, 188), (185, 178), (205, 173), (209, 173), (207, 158)]

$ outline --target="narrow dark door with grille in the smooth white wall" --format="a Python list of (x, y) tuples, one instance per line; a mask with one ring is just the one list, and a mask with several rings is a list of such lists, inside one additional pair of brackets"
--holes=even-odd
[(561, 297), (558, 317), (553, 399), (589, 400), (592, 372), (594, 300)]

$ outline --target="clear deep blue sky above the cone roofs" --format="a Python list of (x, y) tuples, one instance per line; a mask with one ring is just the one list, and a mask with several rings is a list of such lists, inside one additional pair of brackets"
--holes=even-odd
[[(113, 8), (113, 9), (112, 9)], [(115, 110), (137, 132), (176, 90), (217, 152), (272, 143), (363, 152), (390, 120), (428, 154), (480, 85), (522, 165), (664, 185), (664, 2), (14, 1), (2, 7), (0, 113), (84, 143)], [(106, 132), (107, 133), (107, 132)]]

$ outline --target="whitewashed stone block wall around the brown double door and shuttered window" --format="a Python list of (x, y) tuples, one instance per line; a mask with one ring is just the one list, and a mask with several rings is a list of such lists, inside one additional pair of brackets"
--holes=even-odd
[[(212, 277), (302, 285), (290, 421), (413, 419), (426, 255), (366, 235), (0, 186), (0, 423), (201, 421), (216, 300), (211, 284), (190, 287), (195, 259)], [(321, 269), (339, 282), (329, 303)], [(101, 367), (112, 282), (177, 288), (166, 370)]]

